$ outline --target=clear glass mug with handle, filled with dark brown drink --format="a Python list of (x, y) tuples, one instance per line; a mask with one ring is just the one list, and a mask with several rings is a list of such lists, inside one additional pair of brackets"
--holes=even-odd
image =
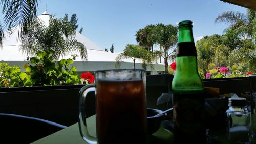
[[(146, 143), (147, 114), (144, 70), (102, 70), (95, 72), (95, 85), (80, 92), (79, 130), (88, 143)], [(96, 134), (89, 135), (85, 104), (89, 92), (96, 95)]]

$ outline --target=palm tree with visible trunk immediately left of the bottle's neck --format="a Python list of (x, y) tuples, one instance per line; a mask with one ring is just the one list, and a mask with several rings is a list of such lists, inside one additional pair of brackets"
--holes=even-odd
[[(157, 24), (152, 31), (151, 39), (155, 39), (155, 42), (163, 48), (159, 52), (164, 59), (165, 73), (168, 73), (168, 58), (172, 58), (176, 52), (177, 34), (178, 27), (173, 25)], [(173, 51), (169, 53), (170, 49)]]

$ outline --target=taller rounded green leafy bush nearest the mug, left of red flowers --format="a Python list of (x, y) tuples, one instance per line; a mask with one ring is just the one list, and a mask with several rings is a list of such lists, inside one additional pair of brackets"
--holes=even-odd
[(77, 69), (74, 66), (70, 68), (73, 60), (61, 59), (56, 63), (53, 54), (52, 50), (40, 51), (37, 57), (30, 59), (31, 65), (26, 72), (31, 75), (33, 86), (81, 84)]

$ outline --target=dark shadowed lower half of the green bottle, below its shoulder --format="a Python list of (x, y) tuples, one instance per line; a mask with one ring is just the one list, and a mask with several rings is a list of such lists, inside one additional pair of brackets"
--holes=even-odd
[(173, 94), (174, 143), (206, 144), (204, 95)]

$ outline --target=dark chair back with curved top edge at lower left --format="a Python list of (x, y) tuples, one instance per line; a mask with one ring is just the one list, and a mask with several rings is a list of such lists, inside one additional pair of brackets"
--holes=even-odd
[(1, 143), (31, 143), (65, 128), (45, 119), (0, 113)]

